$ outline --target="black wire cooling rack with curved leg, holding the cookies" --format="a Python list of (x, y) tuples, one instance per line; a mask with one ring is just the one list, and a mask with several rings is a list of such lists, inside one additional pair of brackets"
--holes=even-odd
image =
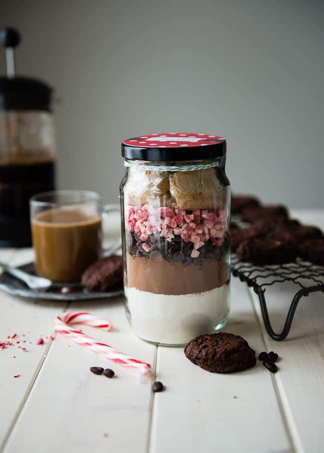
[[(284, 340), (288, 336), (301, 298), (307, 297), (311, 293), (324, 292), (324, 267), (300, 259), (295, 263), (260, 267), (240, 262), (237, 255), (232, 254), (232, 274), (242, 282), (246, 282), (259, 296), (265, 328), (270, 337), (277, 341)], [(297, 292), (289, 307), (284, 329), (281, 334), (276, 334), (270, 323), (265, 292), (267, 287), (282, 282), (294, 283)]]

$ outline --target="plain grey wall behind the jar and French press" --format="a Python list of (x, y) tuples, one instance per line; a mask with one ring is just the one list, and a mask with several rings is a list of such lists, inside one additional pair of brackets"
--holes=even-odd
[(208, 132), (234, 191), (324, 207), (324, 1), (2, 0), (8, 25), (18, 73), (62, 99), (60, 188), (116, 202), (123, 139)]

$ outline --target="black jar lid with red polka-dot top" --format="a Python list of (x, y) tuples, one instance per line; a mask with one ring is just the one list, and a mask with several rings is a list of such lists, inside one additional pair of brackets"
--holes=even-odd
[(225, 152), (224, 137), (203, 133), (144, 134), (122, 143), (122, 155), (126, 159), (147, 161), (212, 159), (223, 156)]

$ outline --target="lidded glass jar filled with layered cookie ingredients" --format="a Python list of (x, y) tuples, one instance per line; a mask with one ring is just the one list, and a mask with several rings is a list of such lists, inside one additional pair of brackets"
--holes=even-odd
[(122, 143), (126, 313), (135, 334), (184, 345), (229, 314), (230, 185), (226, 141), (153, 134)]

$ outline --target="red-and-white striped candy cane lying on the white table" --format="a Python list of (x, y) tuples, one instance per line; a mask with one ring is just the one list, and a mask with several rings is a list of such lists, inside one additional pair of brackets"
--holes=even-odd
[(149, 363), (141, 362), (140, 360), (124, 354), (124, 352), (119, 352), (112, 346), (109, 346), (109, 344), (98, 342), (80, 331), (72, 330), (67, 325), (67, 322), (70, 324), (81, 322), (89, 326), (110, 330), (110, 321), (96, 318), (86, 312), (67, 312), (63, 316), (63, 320), (59, 316), (55, 319), (54, 329), (56, 333), (63, 335), (67, 339), (73, 340), (81, 346), (86, 346), (91, 351), (104, 355), (106, 358), (113, 360), (115, 363), (123, 365), (126, 368), (130, 368), (139, 374), (147, 375), (151, 373), (151, 365)]

